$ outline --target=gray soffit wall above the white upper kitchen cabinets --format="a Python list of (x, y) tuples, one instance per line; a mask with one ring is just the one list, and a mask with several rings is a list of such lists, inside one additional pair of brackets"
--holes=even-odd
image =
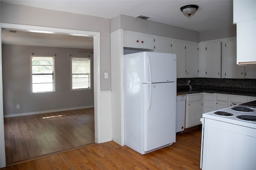
[(199, 33), (189, 29), (183, 29), (172, 25), (165, 25), (162, 23), (146, 21), (124, 15), (119, 15), (111, 19), (111, 32), (118, 29), (125, 29), (184, 41), (192, 41), (196, 43), (201, 41), (236, 37), (236, 25)]

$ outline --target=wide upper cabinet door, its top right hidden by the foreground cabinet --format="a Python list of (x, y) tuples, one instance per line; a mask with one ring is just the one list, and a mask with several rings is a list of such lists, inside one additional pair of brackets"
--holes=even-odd
[(244, 66), (236, 64), (236, 40), (222, 44), (222, 78), (244, 78)]

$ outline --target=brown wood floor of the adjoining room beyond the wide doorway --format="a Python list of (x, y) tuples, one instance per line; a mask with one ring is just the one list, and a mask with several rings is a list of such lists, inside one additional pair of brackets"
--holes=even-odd
[(94, 108), (4, 118), (6, 165), (94, 143)]

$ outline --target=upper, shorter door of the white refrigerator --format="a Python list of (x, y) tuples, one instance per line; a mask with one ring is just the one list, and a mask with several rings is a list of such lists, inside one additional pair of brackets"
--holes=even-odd
[(142, 83), (176, 82), (176, 54), (142, 53)]

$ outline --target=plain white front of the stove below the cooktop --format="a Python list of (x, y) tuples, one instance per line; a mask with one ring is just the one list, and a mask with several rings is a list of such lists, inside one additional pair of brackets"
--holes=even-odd
[(204, 118), (200, 168), (256, 169), (256, 129)]

